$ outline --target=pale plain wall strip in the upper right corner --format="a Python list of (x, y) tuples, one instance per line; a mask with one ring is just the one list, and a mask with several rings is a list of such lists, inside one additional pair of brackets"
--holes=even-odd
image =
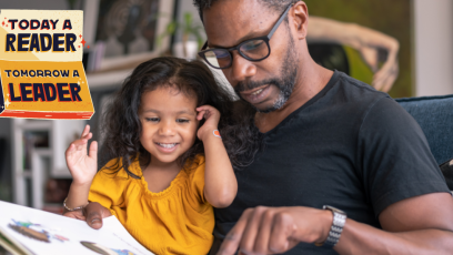
[(416, 95), (453, 94), (453, 1), (414, 0)]

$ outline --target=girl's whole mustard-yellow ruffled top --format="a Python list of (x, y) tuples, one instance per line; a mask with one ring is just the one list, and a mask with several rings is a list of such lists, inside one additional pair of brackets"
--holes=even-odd
[[(203, 193), (204, 157), (197, 156), (194, 164), (181, 170), (159, 193), (149, 191), (143, 177), (132, 178), (123, 169), (114, 173), (104, 166), (94, 176), (88, 200), (109, 208), (137, 241), (155, 254), (208, 254), (214, 214)], [(129, 170), (142, 176), (138, 161)]]

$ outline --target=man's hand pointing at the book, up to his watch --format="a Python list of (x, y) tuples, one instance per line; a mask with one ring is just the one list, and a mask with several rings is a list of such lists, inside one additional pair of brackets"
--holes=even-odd
[(333, 215), (309, 207), (263, 207), (246, 210), (228, 233), (218, 255), (280, 254), (299, 242), (322, 243), (328, 238)]

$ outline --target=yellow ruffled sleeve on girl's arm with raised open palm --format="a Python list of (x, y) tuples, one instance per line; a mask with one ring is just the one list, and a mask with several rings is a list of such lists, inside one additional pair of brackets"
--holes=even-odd
[[(125, 185), (130, 182), (129, 178), (122, 176), (122, 172), (124, 172), (122, 169), (117, 173), (118, 167), (107, 169), (108, 166), (115, 166), (115, 163), (117, 159), (109, 161), (109, 163), (95, 174), (88, 195), (88, 201), (100, 203), (102, 206), (109, 208), (112, 214), (114, 214), (111, 210), (112, 206), (121, 206), (121, 204), (124, 203), (122, 194)], [(119, 163), (119, 165), (121, 165), (121, 162)]]

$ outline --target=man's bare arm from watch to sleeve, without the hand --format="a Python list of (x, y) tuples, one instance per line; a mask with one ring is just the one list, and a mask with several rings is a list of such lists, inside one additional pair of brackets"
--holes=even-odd
[(452, 218), (449, 193), (403, 200), (380, 214), (384, 231), (348, 220), (334, 248), (340, 254), (451, 254)]

